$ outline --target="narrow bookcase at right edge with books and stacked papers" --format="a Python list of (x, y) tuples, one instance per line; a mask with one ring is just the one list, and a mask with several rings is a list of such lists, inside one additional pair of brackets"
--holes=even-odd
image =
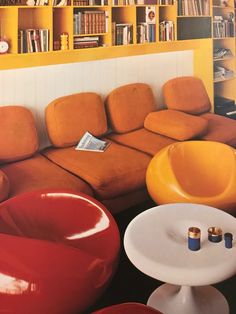
[(215, 100), (222, 97), (235, 101), (236, 63), (234, 0), (213, 0), (212, 23), (214, 97)]

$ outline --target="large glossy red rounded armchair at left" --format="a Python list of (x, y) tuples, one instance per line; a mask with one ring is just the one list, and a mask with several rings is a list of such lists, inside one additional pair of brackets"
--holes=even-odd
[(116, 269), (111, 214), (85, 194), (37, 191), (0, 204), (0, 313), (72, 314), (88, 308)]

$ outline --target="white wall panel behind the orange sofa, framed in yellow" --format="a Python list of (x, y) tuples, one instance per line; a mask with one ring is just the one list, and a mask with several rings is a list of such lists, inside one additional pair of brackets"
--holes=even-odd
[(0, 105), (25, 105), (36, 118), (41, 147), (49, 144), (44, 108), (55, 98), (97, 92), (133, 82), (149, 84), (162, 107), (162, 85), (172, 77), (193, 74), (193, 52), (180, 51), (55, 66), (0, 71)]

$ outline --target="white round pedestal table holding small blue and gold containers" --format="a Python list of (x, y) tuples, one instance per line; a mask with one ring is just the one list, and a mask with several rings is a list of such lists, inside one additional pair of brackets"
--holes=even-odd
[[(188, 248), (188, 228), (201, 230), (201, 248)], [(236, 219), (222, 210), (190, 203), (166, 204), (136, 216), (124, 235), (130, 261), (146, 275), (166, 282), (147, 304), (165, 314), (228, 314), (225, 297), (211, 284), (236, 273), (236, 242), (225, 248), (208, 240), (220, 227), (236, 238)]]

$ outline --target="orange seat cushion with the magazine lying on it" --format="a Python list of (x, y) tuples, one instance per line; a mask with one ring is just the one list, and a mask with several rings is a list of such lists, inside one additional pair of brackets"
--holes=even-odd
[(114, 142), (103, 153), (48, 148), (43, 154), (90, 184), (100, 199), (109, 199), (145, 186), (150, 157)]

